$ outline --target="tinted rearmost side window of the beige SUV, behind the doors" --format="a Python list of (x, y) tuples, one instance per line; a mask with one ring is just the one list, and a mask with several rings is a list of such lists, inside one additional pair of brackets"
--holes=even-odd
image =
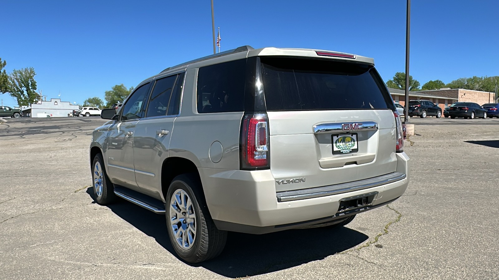
[(198, 113), (244, 111), (246, 59), (199, 68)]

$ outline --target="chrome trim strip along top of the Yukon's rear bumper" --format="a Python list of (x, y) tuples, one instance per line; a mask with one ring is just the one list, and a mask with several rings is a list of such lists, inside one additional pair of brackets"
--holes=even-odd
[(342, 183), (342, 184), (329, 185), (329, 186), (323, 186), (323, 187), (315, 187), (315, 188), (309, 188), (309, 189), (277, 192), (276, 196), (277, 196), (278, 202), (308, 199), (308, 198), (314, 198), (314, 197), (322, 197), (322, 196), (328, 196), (328, 195), (334, 195), (334, 194), (340, 194), (340, 193), (345, 193), (345, 192), (351, 192), (351, 191), (356, 191), (356, 190), (377, 187), (377, 186), (400, 181), (406, 177), (407, 177), (406, 174), (402, 174), (399, 172), (393, 172), (390, 174), (377, 176), (374, 178), (369, 178), (369, 179), (364, 179), (364, 180), (359, 180), (359, 181), (353, 181), (353, 182), (349, 182), (349, 183)]

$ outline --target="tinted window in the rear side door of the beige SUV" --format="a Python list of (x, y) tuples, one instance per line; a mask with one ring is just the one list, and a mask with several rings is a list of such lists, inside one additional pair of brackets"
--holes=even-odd
[(177, 80), (177, 75), (156, 81), (147, 106), (146, 117), (166, 116), (175, 80)]

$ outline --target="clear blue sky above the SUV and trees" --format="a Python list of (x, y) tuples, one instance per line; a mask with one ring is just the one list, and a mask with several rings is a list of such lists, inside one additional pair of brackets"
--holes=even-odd
[[(214, 0), (221, 50), (318, 48), (373, 57), (385, 81), (405, 69), (405, 0)], [(423, 85), (499, 75), (499, 2), (413, 0), (410, 74)], [(211, 2), (31, 1), (1, 4), (7, 72), (34, 67), (49, 98), (104, 99), (161, 70), (213, 53)], [(8, 94), (3, 104), (17, 105)]]

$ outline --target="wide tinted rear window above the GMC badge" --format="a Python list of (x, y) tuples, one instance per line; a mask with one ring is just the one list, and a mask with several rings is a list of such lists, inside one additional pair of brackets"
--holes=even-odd
[(282, 57), (260, 61), (267, 111), (393, 107), (371, 65)]

